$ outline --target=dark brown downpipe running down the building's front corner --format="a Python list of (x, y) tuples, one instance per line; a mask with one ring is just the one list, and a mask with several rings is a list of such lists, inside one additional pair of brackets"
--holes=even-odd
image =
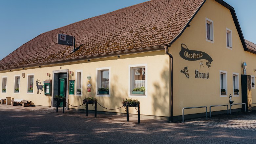
[(170, 107), (171, 107), (171, 117), (169, 118), (169, 121), (173, 121), (173, 57), (172, 55), (168, 52), (168, 47), (170, 47), (171, 45), (166, 45), (164, 46), (164, 50), (165, 53), (171, 58), (171, 63), (170, 63), (170, 67), (171, 67), (171, 77), (170, 77), (170, 81), (171, 81), (171, 89), (170, 94), (171, 94), (171, 100), (170, 100)]

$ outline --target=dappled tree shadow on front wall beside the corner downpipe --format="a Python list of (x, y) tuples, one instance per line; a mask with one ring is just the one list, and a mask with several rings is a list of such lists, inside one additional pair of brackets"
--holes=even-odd
[[(165, 64), (168, 65), (168, 61)], [(155, 93), (152, 94), (153, 97), (153, 115), (159, 115), (159, 112), (166, 113), (169, 115), (169, 67), (165, 66), (161, 73), (161, 79), (154, 82)], [(164, 86), (162, 86), (164, 85)]]

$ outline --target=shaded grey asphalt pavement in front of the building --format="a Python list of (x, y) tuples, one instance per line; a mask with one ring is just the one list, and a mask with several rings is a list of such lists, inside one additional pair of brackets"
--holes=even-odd
[[(253, 129), (223, 127), (219, 121), (220, 117), (217, 117), (217, 120), (216, 117), (191, 119), (185, 123), (168, 123), (165, 120), (141, 118), (141, 123), (138, 124), (137, 117), (130, 117), (130, 121), (126, 122), (125, 116), (98, 114), (95, 118), (94, 113), (89, 113), (89, 117), (85, 117), (84, 111), (68, 110), (65, 111), (65, 114), (61, 112), (59, 110), (59, 113), (56, 113), (53, 108), (39, 106), (0, 105), (0, 144), (254, 144), (256, 141), (256, 132)], [(240, 119), (235, 115), (224, 117), (239, 124), (247, 121), (250, 126), (256, 126), (256, 118), (251, 118), (255, 113), (239, 113), (237, 115), (240, 116)], [(241, 119), (243, 115), (248, 117)], [(232, 124), (228, 120), (222, 121), (222, 123)], [(219, 125), (214, 125), (214, 121)], [(247, 126), (246, 123), (245, 126)]]

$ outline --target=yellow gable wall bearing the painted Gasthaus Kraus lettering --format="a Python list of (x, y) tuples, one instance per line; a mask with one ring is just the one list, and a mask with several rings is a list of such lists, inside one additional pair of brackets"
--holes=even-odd
[[(206, 18), (213, 21), (214, 43), (206, 41)], [(229, 94), (234, 103), (242, 102), (241, 74), (242, 63), (247, 63), (247, 75), (256, 75), (256, 55), (244, 51), (231, 13), (214, 0), (207, 0), (183, 34), (169, 48), (174, 58), (174, 116), (182, 115), (183, 107), (229, 105)], [(232, 30), (232, 49), (226, 48), (226, 28)], [(212, 59), (211, 67), (207, 60), (187, 61), (179, 55), (181, 44), (189, 50), (207, 53)], [(203, 66), (200, 68), (200, 61)], [(187, 66), (189, 78), (181, 70)], [(195, 78), (195, 71), (209, 73), (209, 79)], [(227, 95), (220, 95), (220, 70), (227, 72)], [(239, 73), (239, 96), (233, 95), (233, 73)], [(256, 102), (256, 91), (252, 89), (252, 101)], [(255, 106), (254, 104), (252, 106)], [(241, 108), (234, 105), (232, 109)], [(226, 110), (226, 107), (213, 107), (212, 111)], [(185, 114), (203, 113), (205, 108), (186, 109)]]

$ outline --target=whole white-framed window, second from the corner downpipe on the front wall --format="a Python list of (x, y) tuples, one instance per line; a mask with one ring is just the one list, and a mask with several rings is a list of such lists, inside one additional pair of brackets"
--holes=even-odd
[(97, 83), (96, 90), (97, 96), (109, 97), (110, 96), (110, 67), (96, 69)]

